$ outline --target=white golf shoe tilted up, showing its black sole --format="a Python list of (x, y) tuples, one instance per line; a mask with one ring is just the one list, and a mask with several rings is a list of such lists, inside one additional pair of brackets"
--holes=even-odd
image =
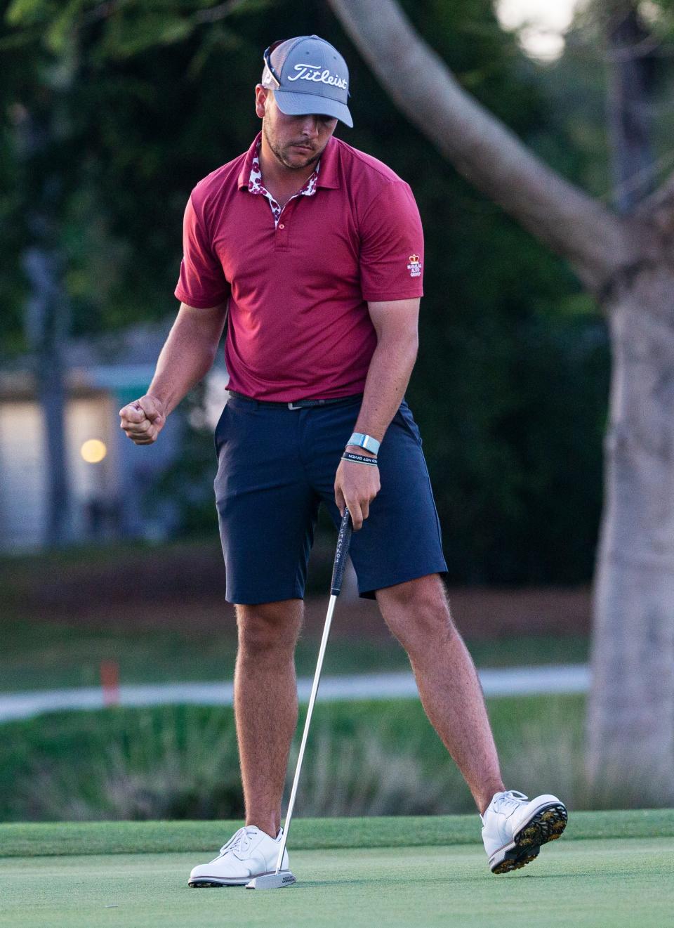
[(492, 873), (519, 870), (539, 856), (540, 845), (566, 828), (566, 807), (556, 796), (531, 801), (523, 793), (495, 793), (482, 819), (482, 841)]

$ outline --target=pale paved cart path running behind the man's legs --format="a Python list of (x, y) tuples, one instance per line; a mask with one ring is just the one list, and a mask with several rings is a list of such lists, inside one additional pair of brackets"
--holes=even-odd
[[(590, 685), (590, 668), (586, 664), (507, 667), (481, 670), (479, 677), (486, 696), (582, 693)], [(309, 701), (311, 688), (310, 677), (299, 678), (300, 702)], [(324, 677), (319, 693), (322, 700), (404, 699), (416, 695), (409, 671)], [(232, 696), (231, 682), (139, 684), (121, 686), (119, 702), (128, 706), (176, 702), (231, 705)], [(0, 693), (0, 722), (63, 709), (100, 709), (103, 705), (100, 687)]]

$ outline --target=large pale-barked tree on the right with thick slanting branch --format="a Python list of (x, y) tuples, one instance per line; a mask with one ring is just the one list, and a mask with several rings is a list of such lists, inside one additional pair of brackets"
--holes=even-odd
[(393, 0), (330, 2), (414, 124), (461, 174), (564, 256), (604, 308), (613, 374), (595, 582), (589, 772), (599, 793), (619, 789), (638, 794), (642, 803), (671, 801), (674, 179), (644, 199), (652, 159), (641, 114), (648, 83), (635, 64), (648, 34), (640, 5), (616, 0), (606, 24), (615, 163), (618, 180), (630, 189), (629, 198), (618, 198), (618, 215), (551, 170), (470, 97)]

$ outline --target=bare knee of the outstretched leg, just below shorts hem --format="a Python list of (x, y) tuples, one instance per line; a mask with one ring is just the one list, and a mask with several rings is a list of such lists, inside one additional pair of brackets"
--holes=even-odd
[(377, 591), (376, 599), (388, 628), (403, 646), (426, 642), (454, 632), (450, 605), (438, 574), (428, 574)]

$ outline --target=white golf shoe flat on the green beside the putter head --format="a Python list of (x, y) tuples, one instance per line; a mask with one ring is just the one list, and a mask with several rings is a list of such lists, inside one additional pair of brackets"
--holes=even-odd
[[(253, 877), (276, 870), (283, 830), (275, 838), (254, 825), (240, 828), (208, 864), (199, 864), (189, 875), (189, 886), (245, 886)], [(288, 869), (287, 852), (283, 867)]]

